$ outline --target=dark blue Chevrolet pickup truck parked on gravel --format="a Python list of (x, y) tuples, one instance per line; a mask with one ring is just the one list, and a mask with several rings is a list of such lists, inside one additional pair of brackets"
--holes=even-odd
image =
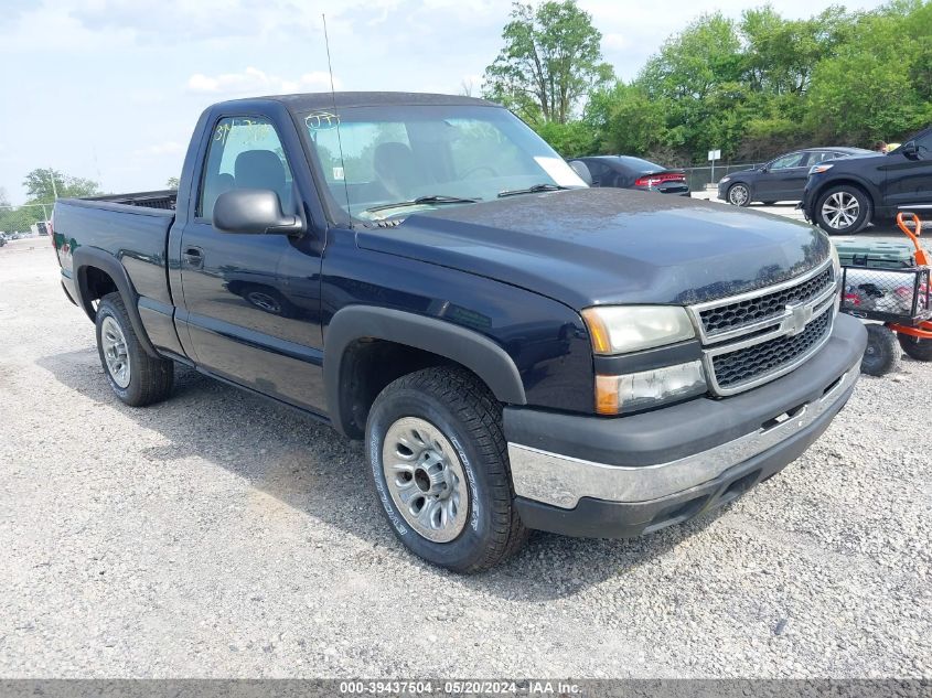
[(325, 420), (401, 543), (459, 572), (528, 529), (735, 500), (825, 430), (865, 348), (814, 226), (590, 189), (481, 99), (218, 104), (176, 192), (58, 201), (53, 227), (120, 400), (167, 398), (179, 363)]

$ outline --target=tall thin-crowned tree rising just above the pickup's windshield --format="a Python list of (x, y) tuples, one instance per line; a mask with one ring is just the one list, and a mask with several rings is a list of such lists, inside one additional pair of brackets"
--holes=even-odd
[(515, 2), (505, 45), (485, 68), (483, 94), (528, 121), (566, 124), (590, 90), (611, 78), (601, 33), (576, 0)]

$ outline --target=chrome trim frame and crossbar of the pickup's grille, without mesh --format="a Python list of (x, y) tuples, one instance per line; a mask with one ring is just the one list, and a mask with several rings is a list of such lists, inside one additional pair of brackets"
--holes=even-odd
[[(774, 286), (748, 291), (747, 293), (720, 298), (718, 300), (697, 303), (686, 308), (693, 324), (696, 327), (699, 341), (703, 344), (703, 367), (705, 368), (706, 380), (708, 382), (709, 390), (713, 395), (727, 397), (729, 395), (737, 395), (765, 383), (770, 383), (771, 380), (774, 380), (797, 368), (813, 354), (818, 352), (818, 350), (821, 350), (832, 336), (832, 330), (835, 324), (835, 309), (837, 307), (836, 301), (838, 299), (839, 279), (837, 278), (837, 275), (832, 273), (831, 283), (824, 289), (818, 290), (813, 298), (803, 302), (786, 302), (784, 303), (783, 311), (779, 314), (762, 320), (756, 320), (726, 331), (708, 332), (703, 320), (703, 313), (735, 303), (741, 303), (743, 301), (754, 301), (774, 293), (793, 289), (824, 275), (828, 269), (832, 269), (831, 257), (826, 259), (825, 262), (818, 265), (814, 269), (811, 269), (803, 276), (789, 279)], [(749, 379), (729, 384), (728, 386), (719, 384), (718, 376), (716, 376), (715, 372), (714, 361), (717, 356), (739, 352), (773, 340), (793, 337), (805, 332), (812, 326), (813, 322), (822, 319), (823, 314), (826, 312), (832, 314), (828, 318), (824, 335), (818, 337), (816, 343), (803, 354), (794, 357), (786, 364), (782, 364), (758, 375), (752, 375)]]

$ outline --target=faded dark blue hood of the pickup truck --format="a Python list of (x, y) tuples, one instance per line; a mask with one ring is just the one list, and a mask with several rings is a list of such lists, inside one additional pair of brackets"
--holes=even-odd
[(449, 206), (357, 232), (362, 248), (459, 269), (577, 310), (689, 304), (803, 273), (829, 254), (813, 226), (679, 196), (578, 189)]

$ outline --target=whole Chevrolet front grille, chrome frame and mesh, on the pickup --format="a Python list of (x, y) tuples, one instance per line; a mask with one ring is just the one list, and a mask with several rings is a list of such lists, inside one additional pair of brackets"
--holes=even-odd
[(799, 366), (828, 341), (837, 298), (826, 260), (790, 281), (692, 305), (711, 391), (735, 395)]

